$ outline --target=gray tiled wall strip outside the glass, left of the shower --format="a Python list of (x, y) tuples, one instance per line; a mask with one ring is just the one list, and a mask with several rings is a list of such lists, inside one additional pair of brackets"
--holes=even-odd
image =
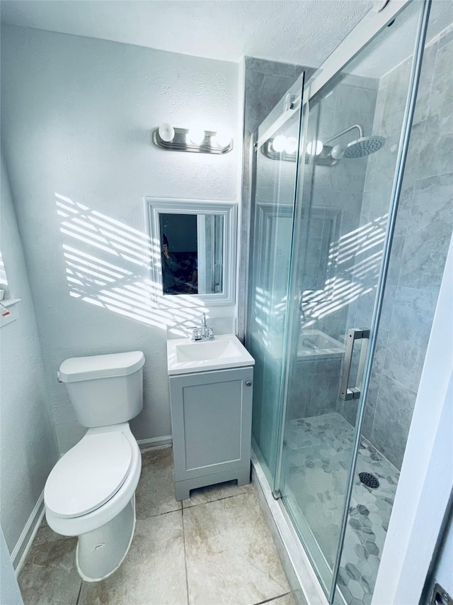
[(249, 157), (251, 134), (256, 131), (264, 118), (273, 110), (286, 91), (294, 84), (299, 75), (305, 72), (309, 78), (315, 70), (289, 63), (266, 61), (254, 57), (245, 57), (245, 93), (243, 108), (243, 179), (242, 179), (242, 216), (241, 216), (241, 252), (239, 260), (239, 318), (238, 335), (243, 340), (246, 325), (246, 298), (248, 283), (248, 256), (250, 248), (250, 174)]

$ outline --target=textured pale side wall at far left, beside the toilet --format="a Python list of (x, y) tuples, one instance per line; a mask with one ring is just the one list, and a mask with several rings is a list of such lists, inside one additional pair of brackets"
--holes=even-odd
[(33, 299), (3, 157), (1, 251), (11, 297), (21, 299), (18, 319), (1, 328), (0, 350), (1, 526), (11, 553), (58, 453), (45, 392)]

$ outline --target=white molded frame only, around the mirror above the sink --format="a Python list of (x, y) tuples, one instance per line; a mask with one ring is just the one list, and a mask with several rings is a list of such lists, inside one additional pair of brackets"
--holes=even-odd
[[(173, 308), (187, 306), (232, 305), (236, 292), (236, 236), (237, 204), (235, 201), (174, 199), (145, 197), (147, 229), (151, 240), (149, 277), (155, 284), (155, 301), (159, 306)], [(214, 294), (164, 294), (161, 267), (160, 214), (220, 214), (224, 218), (223, 261), (224, 289)], [(159, 252), (157, 252), (159, 250)]]

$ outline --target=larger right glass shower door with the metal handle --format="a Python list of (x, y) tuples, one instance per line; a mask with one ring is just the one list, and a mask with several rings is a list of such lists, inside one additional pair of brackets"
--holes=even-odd
[[(413, 53), (420, 7), (409, 5), (391, 28), (309, 99), (306, 165), (294, 217), (277, 487), (329, 595), (349, 506), (358, 412), (365, 405), (362, 382), (377, 313), (411, 61), (407, 69), (398, 70), (397, 79), (392, 72), (401, 57)], [(396, 39), (401, 40), (397, 53), (392, 52)], [(376, 404), (372, 385), (367, 397), (369, 405)], [(362, 439), (362, 448), (368, 448), (367, 457), (358, 466), (372, 470), (372, 445)], [(365, 501), (355, 504), (367, 516)], [(374, 539), (370, 519), (360, 525), (364, 543)], [(357, 554), (353, 556), (357, 562)], [(345, 571), (360, 577), (357, 565)], [(373, 582), (369, 577), (367, 584)], [(363, 592), (360, 599), (367, 603)]]

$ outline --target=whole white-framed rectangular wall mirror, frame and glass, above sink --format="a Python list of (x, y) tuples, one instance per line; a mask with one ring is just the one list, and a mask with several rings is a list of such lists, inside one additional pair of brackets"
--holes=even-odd
[(236, 204), (151, 197), (145, 200), (157, 303), (234, 304)]

